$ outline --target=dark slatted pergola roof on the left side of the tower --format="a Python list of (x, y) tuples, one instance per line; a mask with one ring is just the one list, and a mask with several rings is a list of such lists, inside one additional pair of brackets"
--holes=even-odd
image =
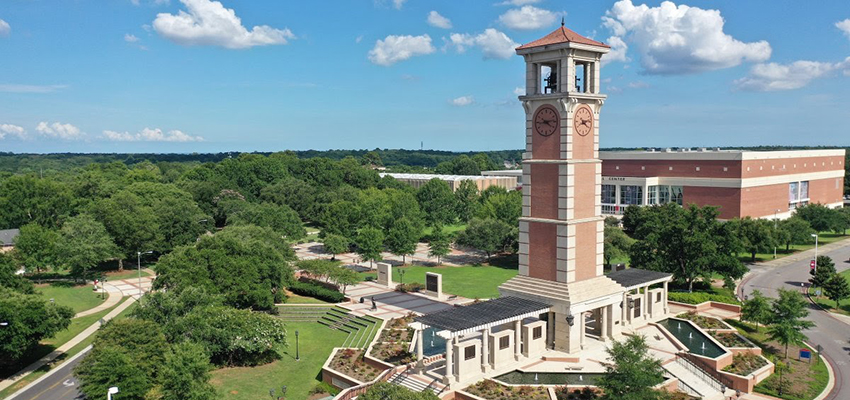
[(415, 320), (438, 330), (456, 333), (526, 318), (548, 311), (550, 307), (549, 304), (508, 296), (433, 312)]

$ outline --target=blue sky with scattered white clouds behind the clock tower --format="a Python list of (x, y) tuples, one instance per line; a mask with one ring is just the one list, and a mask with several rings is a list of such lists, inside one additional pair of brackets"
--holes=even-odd
[(603, 147), (850, 145), (846, 1), (4, 0), (0, 151), (521, 148), (561, 17)]

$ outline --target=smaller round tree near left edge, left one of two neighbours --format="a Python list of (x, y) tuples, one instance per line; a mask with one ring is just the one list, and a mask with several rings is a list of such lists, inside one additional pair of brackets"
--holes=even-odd
[(12, 252), (15, 260), (27, 272), (41, 272), (47, 267), (56, 265), (56, 244), (59, 234), (36, 223), (21, 227), (21, 233), (15, 239), (15, 249)]

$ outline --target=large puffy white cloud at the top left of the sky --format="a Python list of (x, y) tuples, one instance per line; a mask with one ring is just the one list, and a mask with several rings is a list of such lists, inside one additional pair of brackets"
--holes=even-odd
[(184, 46), (221, 46), (245, 49), (254, 46), (286, 44), (295, 35), (289, 29), (268, 25), (254, 26), (249, 31), (233, 9), (217, 1), (180, 0), (186, 11), (177, 15), (160, 13), (153, 29), (168, 40)]

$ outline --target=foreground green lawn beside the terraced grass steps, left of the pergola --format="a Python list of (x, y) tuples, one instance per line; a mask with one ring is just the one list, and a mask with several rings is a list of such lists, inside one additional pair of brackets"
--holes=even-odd
[[(295, 361), (295, 331), (299, 335), (301, 361)], [(321, 380), (322, 365), (334, 347), (348, 334), (315, 322), (287, 324), (289, 347), (281, 360), (258, 367), (222, 368), (212, 373), (211, 383), (224, 400), (256, 400), (269, 397), (269, 389), (280, 393), (287, 386), (287, 399), (306, 399)]]

